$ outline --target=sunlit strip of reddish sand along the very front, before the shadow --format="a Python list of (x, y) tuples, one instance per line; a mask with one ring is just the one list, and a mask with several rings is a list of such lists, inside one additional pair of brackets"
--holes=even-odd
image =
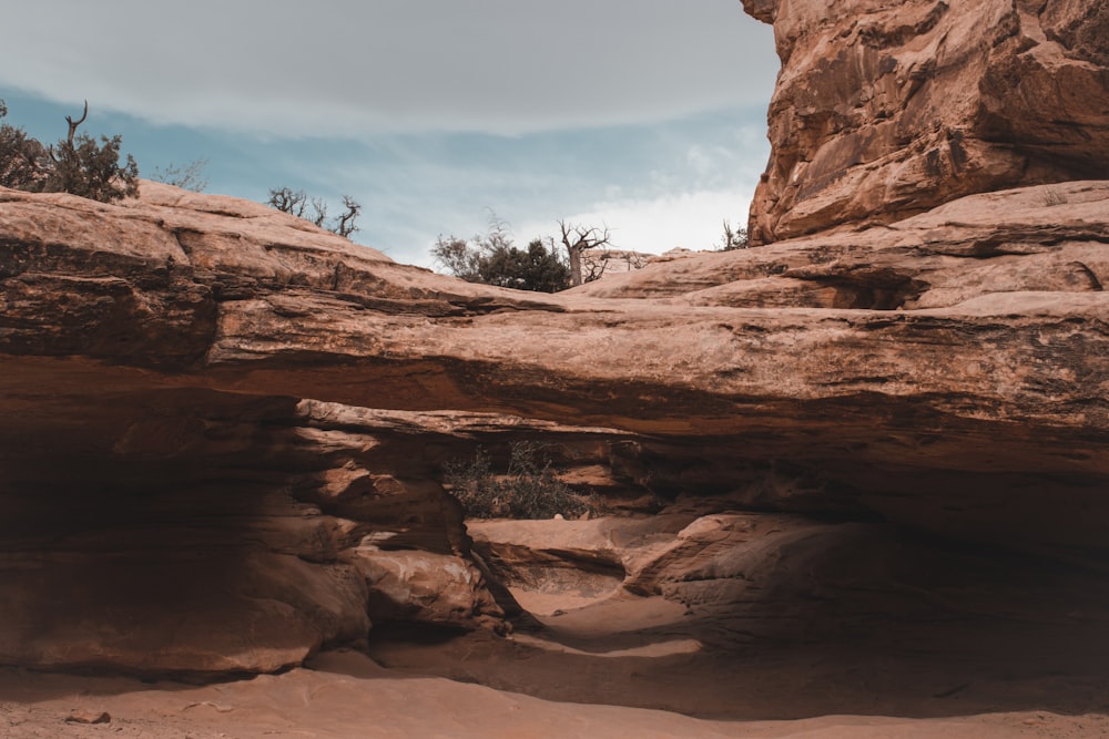
[[(572, 677), (572, 676), (568, 676)], [(0, 736), (23, 737), (750, 737), (990, 739), (1109, 736), (1102, 715), (1019, 711), (906, 719), (822, 716), (705, 721), (658, 710), (553, 702), (384, 669), (332, 653), (315, 669), (191, 687), (0, 671)], [(110, 715), (106, 723), (75, 717)]]

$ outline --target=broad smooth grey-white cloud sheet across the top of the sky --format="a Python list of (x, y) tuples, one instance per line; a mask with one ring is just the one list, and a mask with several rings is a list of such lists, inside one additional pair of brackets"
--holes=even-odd
[(770, 29), (735, 0), (35, 0), (0, 86), (274, 136), (519, 134), (769, 97)]

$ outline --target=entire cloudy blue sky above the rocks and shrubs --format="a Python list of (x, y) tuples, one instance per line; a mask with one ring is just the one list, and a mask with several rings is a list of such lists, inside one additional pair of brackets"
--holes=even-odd
[(120, 134), (140, 174), (288, 186), (433, 266), (439, 235), (558, 220), (619, 248), (719, 245), (770, 153), (773, 34), (739, 0), (35, 0), (0, 31), (7, 122)]

